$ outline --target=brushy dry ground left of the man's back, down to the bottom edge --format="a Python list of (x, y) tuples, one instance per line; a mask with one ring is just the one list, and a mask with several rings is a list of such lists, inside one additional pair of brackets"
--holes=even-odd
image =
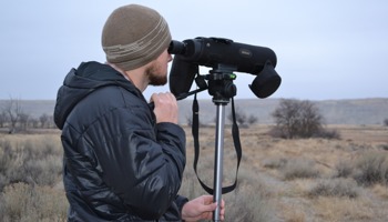
[(65, 221), (58, 135), (0, 139), (0, 221)]

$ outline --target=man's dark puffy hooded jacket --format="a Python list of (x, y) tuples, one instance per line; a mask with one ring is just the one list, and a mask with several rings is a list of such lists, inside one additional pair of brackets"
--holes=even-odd
[(185, 133), (155, 123), (142, 93), (120, 72), (81, 63), (59, 89), (69, 221), (180, 221)]

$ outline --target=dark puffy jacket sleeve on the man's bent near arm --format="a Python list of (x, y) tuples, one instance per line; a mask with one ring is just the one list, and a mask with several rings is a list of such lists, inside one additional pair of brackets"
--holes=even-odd
[(183, 129), (173, 123), (153, 124), (151, 110), (144, 105), (116, 109), (99, 122), (102, 125), (94, 125), (98, 134), (111, 137), (100, 138), (96, 144), (103, 181), (129, 211), (147, 220), (159, 219), (181, 188)]

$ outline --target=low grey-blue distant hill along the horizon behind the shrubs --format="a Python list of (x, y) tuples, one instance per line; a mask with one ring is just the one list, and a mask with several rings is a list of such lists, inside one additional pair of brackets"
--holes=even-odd
[[(274, 123), (270, 113), (278, 107), (280, 99), (238, 99), (235, 100), (237, 111), (254, 115), (258, 123)], [(200, 100), (200, 121), (215, 123), (216, 105), (211, 100)], [(325, 118), (327, 124), (382, 124), (388, 119), (388, 98), (323, 100), (314, 102)], [(0, 111), (7, 100), (0, 100)], [(178, 101), (180, 123), (186, 123), (192, 115), (192, 99)], [(53, 100), (21, 100), (24, 112), (39, 118), (47, 113), (52, 115), (55, 101)], [(231, 103), (225, 107), (226, 115), (231, 113)]]

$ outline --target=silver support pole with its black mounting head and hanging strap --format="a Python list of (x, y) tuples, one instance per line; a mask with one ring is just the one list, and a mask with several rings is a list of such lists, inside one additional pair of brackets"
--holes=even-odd
[[(224, 153), (224, 125), (225, 125), (225, 107), (232, 99), (232, 111), (233, 111), (233, 139), (235, 143), (235, 149), (237, 153), (237, 170), (242, 157), (242, 149), (239, 144), (238, 137), (238, 128), (235, 121), (234, 113), (234, 102), (233, 97), (236, 95), (236, 87), (233, 84), (233, 80), (236, 78), (235, 74), (232, 73), (231, 69), (227, 67), (218, 65), (217, 69), (213, 69), (210, 74), (206, 75), (205, 79), (208, 80), (208, 87), (204, 82), (197, 82), (198, 85), (202, 85), (198, 91), (203, 91), (208, 89), (208, 93), (213, 95), (213, 102), (217, 105), (217, 117), (216, 117), (216, 140), (215, 140), (215, 160), (214, 160), (214, 190), (205, 185), (197, 175), (196, 164), (200, 155), (200, 144), (198, 144), (198, 104), (196, 101), (196, 97), (193, 102), (193, 138), (194, 138), (194, 147), (195, 147), (195, 155), (194, 155), (194, 171), (197, 175), (197, 179), (201, 185), (210, 193), (213, 194), (214, 202), (217, 203), (217, 208), (213, 213), (214, 221), (219, 221), (219, 212), (221, 212), (221, 202), (222, 194), (231, 192), (236, 186), (237, 181), (237, 172), (236, 172), (236, 181), (233, 185), (227, 188), (222, 188), (223, 181), (223, 153)], [(202, 78), (197, 79), (198, 81), (204, 80)]]

